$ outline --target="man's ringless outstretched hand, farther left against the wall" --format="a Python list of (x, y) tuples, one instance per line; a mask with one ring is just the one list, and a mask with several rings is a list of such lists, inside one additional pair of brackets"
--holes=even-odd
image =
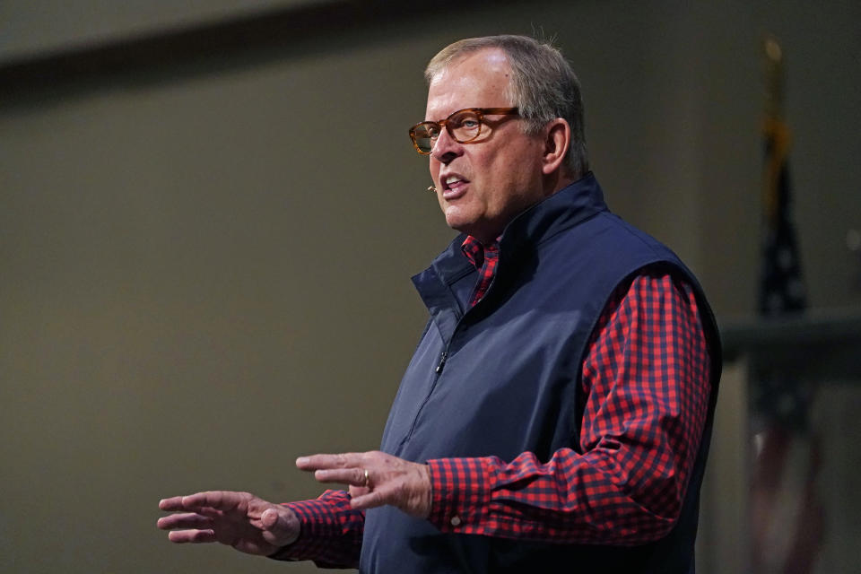
[(161, 500), (159, 508), (178, 511), (158, 521), (178, 544), (219, 542), (268, 556), (299, 537), (299, 518), (291, 509), (248, 492), (197, 492)]

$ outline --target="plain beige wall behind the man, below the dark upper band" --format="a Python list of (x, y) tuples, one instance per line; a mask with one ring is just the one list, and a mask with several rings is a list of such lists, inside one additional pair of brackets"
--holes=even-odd
[[(727, 317), (756, 291), (774, 30), (812, 302), (857, 308), (842, 240), (861, 227), (859, 9), (646, 4), (447, 12), (0, 100), (0, 570), (285, 568), (171, 546), (156, 502), (313, 496), (294, 457), (378, 444), (425, 317), (408, 278), (451, 237), (406, 127), (452, 39), (557, 37), (609, 203)], [(721, 424), (716, 440), (737, 436)]]

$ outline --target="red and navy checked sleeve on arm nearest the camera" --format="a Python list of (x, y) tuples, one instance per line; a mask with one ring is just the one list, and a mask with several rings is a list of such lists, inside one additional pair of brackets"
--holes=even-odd
[(709, 403), (709, 352), (691, 287), (641, 272), (587, 348), (576, 449), (428, 461), (443, 532), (643, 544), (673, 527)]

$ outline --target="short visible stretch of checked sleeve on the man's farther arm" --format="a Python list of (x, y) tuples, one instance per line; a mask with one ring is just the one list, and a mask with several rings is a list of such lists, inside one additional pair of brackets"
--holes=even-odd
[(284, 506), (299, 517), (300, 535), (270, 558), (311, 560), (320, 568), (359, 568), (365, 513), (351, 508), (347, 491), (326, 491), (317, 499)]

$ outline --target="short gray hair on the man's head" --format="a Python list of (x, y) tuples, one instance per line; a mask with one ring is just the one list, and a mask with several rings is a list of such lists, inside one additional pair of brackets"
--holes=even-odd
[(571, 126), (571, 145), (565, 166), (573, 174), (589, 170), (583, 131), (580, 83), (557, 48), (528, 36), (485, 36), (458, 40), (442, 48), (424, 70), (428, 83), (455, 60), (479, 50), (499, 48), (511, 66), (509, 98), (526, 119), (526, 134), (536, 134), (556, 117)]

